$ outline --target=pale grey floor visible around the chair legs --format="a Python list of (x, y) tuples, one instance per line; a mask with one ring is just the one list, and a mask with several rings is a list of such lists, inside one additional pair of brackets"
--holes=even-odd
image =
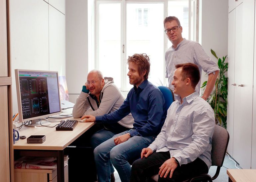
[[(232, 159), (232, 158), (231, 158)], [(214, 180), (214, 182), (228, 182), (228, 176), (227, 176), (227, 168), (228, 169), (236, 169), (235, 162), (229, 159), (228, 155), (226, 154), (223, 166), (220, 169), (219, 176)], [(237, 164), (237, 167), (241, 169), (241, 167)], [(216, 166), (211, 166), (209, 169), (209, 175), (213, 176), (216, 172)], [(114, 172), (116, 182), (121, 182), (119, 175), (117, 171)]]

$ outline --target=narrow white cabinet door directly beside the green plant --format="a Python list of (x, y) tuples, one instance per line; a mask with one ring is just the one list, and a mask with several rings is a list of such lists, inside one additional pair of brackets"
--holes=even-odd
[(234, 83), (235, 83), (235, 10), (228, 14), (228, 105), (227, 105), (227, 131), (229, 144), (227, 152), (233, 156), (233, 128), (234, 128)]

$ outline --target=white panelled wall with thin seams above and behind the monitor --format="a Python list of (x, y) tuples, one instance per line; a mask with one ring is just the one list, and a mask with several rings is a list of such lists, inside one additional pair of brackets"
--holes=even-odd
[(13, 113), (18, 113), (14, 69), (65, 75), (65, 0), (54, 5), (43, 0), (10, 1)]

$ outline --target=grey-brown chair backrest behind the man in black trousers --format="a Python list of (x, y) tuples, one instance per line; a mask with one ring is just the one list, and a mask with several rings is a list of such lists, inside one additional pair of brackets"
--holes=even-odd
[(229, 134), (227, 130), (221, 126), (215, 125), (212, 136), (211, 165), (222, 166), (228, 141)]

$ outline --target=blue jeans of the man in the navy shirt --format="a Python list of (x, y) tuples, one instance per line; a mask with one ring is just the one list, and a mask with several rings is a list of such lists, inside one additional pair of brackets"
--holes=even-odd
[(110, 181), (112, 164), (116, 168), (121, 181), (128, 182), (131, 175), (130, 163), (139, 159), (141, 150), (148, 147), (155, 140), (155, 136), (134, 136), (124, 143), (115, 145), (114, 138), (126, 133), (128, 131), (116, 134), (94, 149), (93, 154), (99, 182)]

